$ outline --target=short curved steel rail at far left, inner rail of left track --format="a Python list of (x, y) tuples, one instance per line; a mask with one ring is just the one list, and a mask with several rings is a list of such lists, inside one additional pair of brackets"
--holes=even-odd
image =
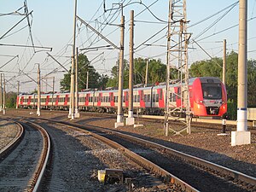
[(8, 145), (0, 150), (0, 159), (2, 159), (6, 154), (9, 154), (9, 152), (20, 143), (21, 138), (24, 136), (24, 127), (18, 122), (15, 122), (15, 124), (18, 125), (18, 132), (15, 136), (15, 139), (13, 139), (10, 143), (8, 143)]

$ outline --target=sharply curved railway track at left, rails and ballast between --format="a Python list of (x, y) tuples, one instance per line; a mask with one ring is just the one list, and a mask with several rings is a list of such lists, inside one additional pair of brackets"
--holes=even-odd
[(24, 131), (1, 153), (0, 190), (37, 191), (49, 157), (49, 136), (38, 125), (26, 121), (18, 125)]

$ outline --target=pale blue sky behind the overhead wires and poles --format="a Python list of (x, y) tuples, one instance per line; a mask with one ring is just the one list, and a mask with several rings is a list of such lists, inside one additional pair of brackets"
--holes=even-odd
[[(142, 44), (166, 26), (167, 0), (77, 0), (77, 2), (77, 15), (118, 47), (120, 39), (118, 25), (121, 15), (119, 7), (120, 3), (125, 5), (123, 8), (125, 59), (128, 61), (130, 11), (133, 9), (134, 47), (138, 47), (135, 49), (134, 57), (160, 59), (166, 63), (166, 30), (145, 43), (152, 46)], [(248, 0), (247, 3), (247, 58), (255, 60), (256, 0)], [(71, 66), (74, 0), (26, 0), (26, 4), (28, 13), (32, 11), (32, 15), (28, 17), (31, 27), (28, 26), (24, 15), (9, 15), (22, 8), (24, 0), (0, 0), (0, 71), (7, 79), (6, 90), (17, 91), (17, 81), (20, 81), (20, 92), (36, 89), (38, 65), (44, 77), (43, 91), (52, 90), (53, 77), (55, 77), (55, 90), (59, 90), (60, 80), (66, 71), (49, 55), (65, 68), (69, 69)], [(24, 8), (18, 13), (24, 14)], [(187, 1), (187, 20), (190, 20), (188, 32), (192, 34), (189, 44), (189, 65), (195, 61), (211, 59), (210, 56), (222, 57), (224, 39), (227, 40), (227, 52), (232, 50), (237, 52), (238, 15), (239, 3), (236, 0)], [(19, 21), (20, 23), (15, 26)], [(14, 29), (10, 30), (13, 26)], [(92, 49), (106, 46), (108, 43), (79, 21), (76, 28), (76, 46), (84, 49), (80, 52), (88, 56), (98, 73), (110, 75), (111, 68), (116, 65), (118, 59), (118, 49)], [(193, 40), (200, 44), (207, 54), (193, 43)], [(40, 48), (16, 46), (32, 46), (32, 42)]]

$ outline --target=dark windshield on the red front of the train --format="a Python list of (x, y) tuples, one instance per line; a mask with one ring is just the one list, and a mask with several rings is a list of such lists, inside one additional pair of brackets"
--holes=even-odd
[(221, 99), (221, 84), (201, 84), (204, 99)]

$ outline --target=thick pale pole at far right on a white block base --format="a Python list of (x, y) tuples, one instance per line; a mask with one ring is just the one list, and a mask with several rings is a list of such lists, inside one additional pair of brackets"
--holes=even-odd
[(239, 47), (238, 47), (238, 89), (237, 125), (231, 132), (231, 145), (251, 143), (247, 131), (247, 0), (239, 1)]

